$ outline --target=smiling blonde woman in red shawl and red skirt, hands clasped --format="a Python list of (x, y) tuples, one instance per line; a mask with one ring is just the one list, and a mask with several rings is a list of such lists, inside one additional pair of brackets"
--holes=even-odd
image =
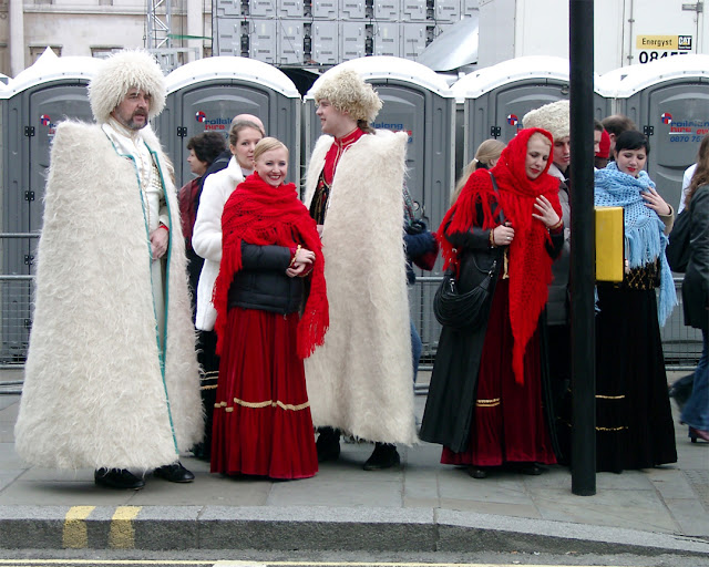
[(212, 472), (306, 478), (318, 456), (302, 359), (328, 327), (322, 250), (296, 186), (285, 184), (286, 146), (266, 137), (254, 162), (222, 217)]

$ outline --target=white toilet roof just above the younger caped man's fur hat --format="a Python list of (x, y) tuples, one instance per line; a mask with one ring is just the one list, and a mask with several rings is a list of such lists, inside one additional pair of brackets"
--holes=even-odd
[(413, 83), (423, 86), (441, 96), (451, 97), (451, 92), (445, 79), (436, 74), (421, 63), (409, 59), (394, 58), (389, 55), (376, 55), (369, 58), (352, 59), (326, 71), (312, 84), (305, 99), (312, 99), (312, 92), (321, 84), (326, 76), (337, 73), (341, 69), (353, 69), (364, 80), (398, 79), (405, 83)]

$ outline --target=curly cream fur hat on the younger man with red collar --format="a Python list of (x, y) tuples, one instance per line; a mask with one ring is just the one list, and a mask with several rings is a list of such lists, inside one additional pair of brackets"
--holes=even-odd
[(322, 99), (338, 111), (347, 112), (354, 120), (372, 122), (382, 102), (372, 85), (364, 82), (352, 69), (342, 69), (330, 76), (322, 76), (322, 83), (312, 93), (315, 101)]

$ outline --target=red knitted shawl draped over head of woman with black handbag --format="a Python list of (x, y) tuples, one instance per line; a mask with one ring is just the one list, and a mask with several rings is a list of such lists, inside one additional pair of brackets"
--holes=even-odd
[[(491, 210), (491, 204), (494, 202), (502, 208), (505, 220), (512, 224), (514, 239), (508, 249), (507, 268), (510, 323), (514, 337), (512, 369), (515, 381), (521, 384), (524, 383), (524, 351), (536, 330), (540, 313), (546, 303), (547, 286), (552, 281), (552, 258), (545, 249), (545, 244), (549, 240), (548, 230), (541, 220), (532, 217), (532, 213), (536, 212), (536, 197), (544, 195), (559, 218), (562, 217), (558, 179), (547, 174), (552, 165), (551, 156), (546, 168), (536, 179), (530, 179), (526, 175), (527, 142), (535, 132), (545, 135), (553, 144), (551, 134), (544, 130), (520, 131), (502, 152), (492, 172), (477, 169), (469, 177), (461, 196), (446, 213), (438, 231), (439, 235), (443, 235), (444, 231), (453, 234), (469, 230), (473, 225), (480, 224), (479, 209), (483, 213), (481, 228), (494, 228), (500, 225), (496, 215)], [(499, 194), (495, 194), (493, 188), (491, 173), (497, 182)], [(439, 240), (444, 267), (456, 266), (456, 251), (451, 243), (440, 236)]]

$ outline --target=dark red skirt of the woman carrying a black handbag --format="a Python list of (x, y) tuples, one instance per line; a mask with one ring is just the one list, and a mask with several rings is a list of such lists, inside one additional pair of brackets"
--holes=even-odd
[(501, 279), (490, 310), (467, 450), (454, 453), (443, 447), (441, 463), (556, 463), (542, 405), (538, 331), (524, 353), (524, 384), (514, 380), (512, 346), (510, 280)]

